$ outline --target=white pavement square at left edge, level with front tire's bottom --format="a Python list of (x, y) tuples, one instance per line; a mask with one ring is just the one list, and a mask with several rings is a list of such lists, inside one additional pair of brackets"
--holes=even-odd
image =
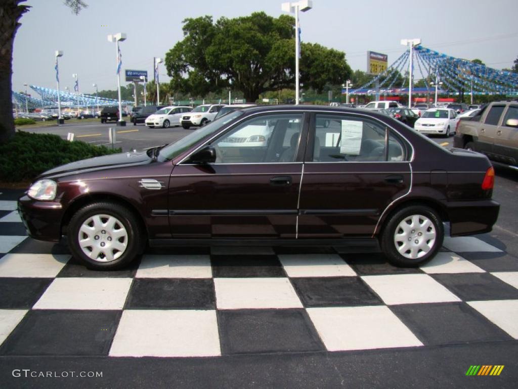
[(0, 258), (0, 277), (53, 278), (69, 259), (68, 254), (7, 254)]

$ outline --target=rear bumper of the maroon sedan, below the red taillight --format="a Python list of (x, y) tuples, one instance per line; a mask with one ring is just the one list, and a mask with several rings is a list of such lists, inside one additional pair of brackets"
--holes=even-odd
[(455, 201), (447, 206), (451, 236), (490, 232), (498, 219), (500, 204), (493, 200)]

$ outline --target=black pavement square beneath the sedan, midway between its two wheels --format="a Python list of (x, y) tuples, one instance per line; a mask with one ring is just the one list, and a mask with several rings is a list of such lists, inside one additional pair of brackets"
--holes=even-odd
[(285, 277), (275, 255), (211, 255), (214, 277)]

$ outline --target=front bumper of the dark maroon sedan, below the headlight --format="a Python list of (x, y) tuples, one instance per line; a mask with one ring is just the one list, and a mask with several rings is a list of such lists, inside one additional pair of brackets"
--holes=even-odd
[(63, 207), (54, 201), (37, 201), (28, 196), (18, 200), (18, 213), (31, 238), (58, 242), (61, 239)]

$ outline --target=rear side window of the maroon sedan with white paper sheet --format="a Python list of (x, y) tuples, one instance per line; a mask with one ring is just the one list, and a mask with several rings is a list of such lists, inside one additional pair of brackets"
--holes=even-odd
[(404, 161), (405, 148), (382, 123), (344, 115), (316, 114), (313, 162)]

